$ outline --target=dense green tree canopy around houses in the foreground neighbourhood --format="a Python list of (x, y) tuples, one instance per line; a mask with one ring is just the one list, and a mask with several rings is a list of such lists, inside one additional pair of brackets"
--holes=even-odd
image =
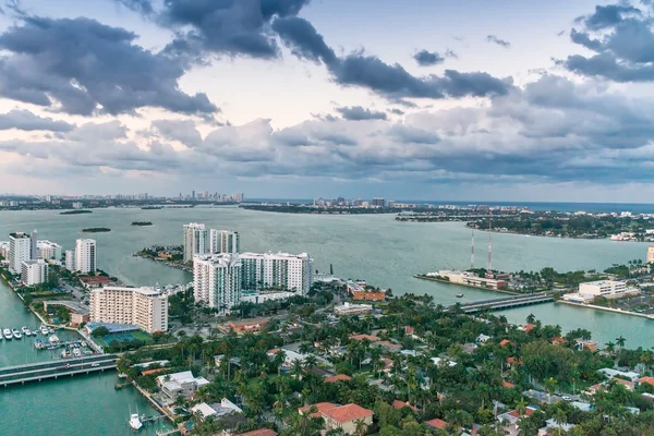
[[(545, 276), (549, 277), (548, 271)], [(472, 425), (479, 424), (477, 434), (498, 436), (505, 434), (504, 424), (495, 420), (494, 408), (499, 402), (506, 407), (499, 405), (497, 413), (516, 410), (523, 415), (520, 435), (535, 435), (547, 419), (574, 424), (568, 433), (573, 436), (651, 434), (654, 411), (640, 396), (650, 387), (638, 387), (631, 392), (607, 382), (604, 391), (589, 399), (594, 407), (590, 412), (565, 401), (538, 403), (521, 393), (535, 389), (543, 392), (543, 398), (559, 391), (580, 395), (582, 389), (605, 380), (597, 370), (616, 363), (640, 365), (643, 374), (652, 374), (653, 352), (627, 350), (623, 338), (616, 338), (613, 348), (607, 344), (605, 353), (579, 351), (576, 340), (590, 339), (588, 330), (570, 331), (565, 343), (553, 344), (562, 335), (560, 327), (544, 326), (533, 316), (529, 317), (533, 329), (526, 334), (508, 325), (504, 316), (472, 317), (458, 306), (444, 311), (433, 298), (411, 294), (377, 304), (380, 316), (346, 316), (330, 322), (320, 312), (330, 304), (328, 294), (331, 299), (344, 296), (339, 289), (319, 284), (306, 296), (307, 301), (289, 306), (286, 317), (276, 318), (256, 335), (232, 332), (208, 340), (184, 336), (171, 347), (143, 348), (124, 354), (119, 368), (150, 392), (158, 390), (159, 375), (191, 371), (207, 377), (211, 380), (207, 386), (193, 399), (179, 398), (178, 404), (187, 409), (199, 401), (242, 399), (246, 422), (234, 433), (272, 427), (281, 436), (318, 435), (322, 420), (300, 415), (298, 408), (317, 402), (352, 402), (375, 412), (372, 427), (360, 428), (361, 435), (424, 436), (433, 434), (425, 422), (438, 417), (448, 423), (448, 428), (438, 431), (438, 435), (456, 435), (463, 429), (470, 433)], [(171, 310), (179, 312), (177, 316), (195, 319), (198, 311), (202, 313), (190, 295), (177, 300), (171, 302)], [(411, 335), (407, 327), (412, 328)], [(294, 331), (287, 332), (291, 328)], [(407, 352), (392, 352), (367, 337), (351, 339), (353, 334), (376, 335)], [(473, 346), (482, 334), (491, 339)], [(268, 354), (271, 349), (291, 347), (289, 343), (307, 358), (287, 364), (283, 349)], [(214, 356), (221, 356), (218, 364)], [(238, 360), (232, 361), (233, 358)], [(433, 358), (440, 358), (440, 363), (436, 364)], [(168, 360), (170, 364), (156, 375), (143, 375), (132, 366), (152, 360)], [(325, 383), (318, 370), (347, 374), (352, 379)], [(396, 410), (390, 405), (396, 399), (409, 401), (415, 411)], [(529, 404), (540, 409), (526, 417)], [(640, 414), (632, 415), (627, 407), (638, 408)], [(193, 434), (198, 435), (218, 433), (223, 425), (220, 420), (190, 419), (194, 420)]]

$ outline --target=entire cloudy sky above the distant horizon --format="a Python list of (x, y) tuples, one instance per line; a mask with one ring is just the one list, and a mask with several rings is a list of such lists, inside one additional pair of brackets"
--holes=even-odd
[(652, 0), (1, 8), (0, 193), (654, 195)]

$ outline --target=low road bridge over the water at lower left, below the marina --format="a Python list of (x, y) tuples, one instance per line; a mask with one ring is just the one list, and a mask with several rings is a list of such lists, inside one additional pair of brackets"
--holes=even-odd
[(118, 361), (116, 354), (96, 354), (85, 358), (7, 366), (0, 368), (0, 387), (113, 370), (116, 368), (116, 361)]

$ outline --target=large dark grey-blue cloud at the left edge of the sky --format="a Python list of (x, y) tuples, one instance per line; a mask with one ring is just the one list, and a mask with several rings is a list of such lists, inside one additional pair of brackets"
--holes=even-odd
[(23, 15), (0, 35), (0, 95), (63, 112), (131, 113), (152, 106), (180, 113), (217, 108), (180, 90), (184, 65), (133, 45), (136, 35), (89, 19)]

